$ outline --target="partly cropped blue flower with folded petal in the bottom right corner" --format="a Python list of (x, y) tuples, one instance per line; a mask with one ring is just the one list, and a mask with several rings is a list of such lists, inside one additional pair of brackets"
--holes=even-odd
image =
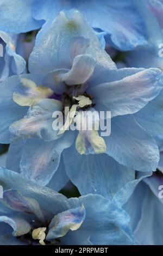
[(140, 245), (162, 245), (163, 167), (162, 136), (156, 137), (160, 162), (156, 172), (135, 172), (135, 179), (127, 182), (112, 202), (125, 209), (130, 216), (130, 228)]

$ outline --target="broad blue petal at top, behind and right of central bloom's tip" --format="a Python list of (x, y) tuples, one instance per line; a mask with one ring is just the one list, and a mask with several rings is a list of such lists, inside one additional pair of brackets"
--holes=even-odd
[[(40, 3), (39, 3), (40, 2)], [(76, 8), (90, 25), (111, 34), (112, 45), (121, 50), (132, 50), (147, 42), (146, 27), (134, 3), (121, 1), (35, 1), (35, 19), (52, 20), (60, 10)], [(53, 11), (52, 11), (53, 10)]]

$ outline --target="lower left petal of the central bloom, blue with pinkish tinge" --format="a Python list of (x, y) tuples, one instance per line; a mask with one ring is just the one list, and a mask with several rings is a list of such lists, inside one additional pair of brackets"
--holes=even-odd
[(72, 145), (73, 135), (66, 131), (64, 136), (52, 142), (29, 139), (21, 156), (21, 174), (40, 185), (47, 185), (59, 167), (62, 151)]

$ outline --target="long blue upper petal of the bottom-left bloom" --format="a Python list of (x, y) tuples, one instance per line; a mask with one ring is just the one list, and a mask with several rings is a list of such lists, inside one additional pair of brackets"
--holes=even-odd
[(41, 209), (46, 209), (52, 217), (61, 211), (70, 208), (65, 196), (50, 188), (41, 187), (36, 182), (29, 181), (22, 175), (11, 170), (0, 168), (0, 185), (4, 190), (10, 188), (21, 191), (24, 196), (34, 198), (39, 202)]

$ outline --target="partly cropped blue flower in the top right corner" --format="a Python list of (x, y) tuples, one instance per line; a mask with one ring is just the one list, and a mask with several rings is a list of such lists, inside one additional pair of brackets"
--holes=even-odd
[[(142, 68), (160, 68), (163, 66), (161, 44), (163, 43), (162, 24), (160, 14), (163, 14), (163, 3), (158, 0), (136, 1), (137, 10), (144, 20), (148, 33), (147, 45), (139, 46), (128, 54), (127, 62), (130, 66)], [(159, 9), (159, 11), (157, 11)]]

